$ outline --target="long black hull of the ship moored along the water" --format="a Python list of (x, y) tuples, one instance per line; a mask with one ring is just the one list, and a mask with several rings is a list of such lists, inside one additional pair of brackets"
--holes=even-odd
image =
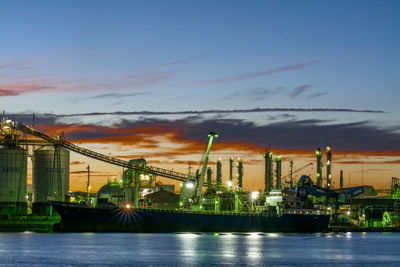
[(329, 215), (206, 213), (177, 210), (90, 208), (53, 202), (59, 232), (322, 232)]

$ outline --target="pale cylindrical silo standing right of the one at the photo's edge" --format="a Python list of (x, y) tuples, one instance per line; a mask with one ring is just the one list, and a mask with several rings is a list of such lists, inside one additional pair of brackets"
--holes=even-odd
[(69, 151), (45, 147), (33, 151), (32, 202), (65, 201), (69, 191)]

